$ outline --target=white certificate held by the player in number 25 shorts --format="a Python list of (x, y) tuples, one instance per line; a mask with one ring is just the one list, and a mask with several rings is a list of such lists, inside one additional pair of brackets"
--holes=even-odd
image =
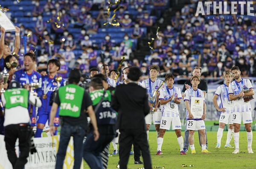
[(201, 118), (204, 114), (204, 98), (191, 97), (190, 110), (194, 118)]

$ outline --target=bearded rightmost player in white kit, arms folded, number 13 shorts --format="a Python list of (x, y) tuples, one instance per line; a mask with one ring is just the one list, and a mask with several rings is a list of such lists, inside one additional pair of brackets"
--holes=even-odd
[[(253, 132), (251, 130), (251, 123), (253, 122), (251, 115), (251, 106), (248, 97), (254, 95), (254, 90), (249, 79), (242, 79), (239, 67), (234, 66), (231, 68), (231, 72), (235, 78), (228, 87), (228, 94), (230, 101), (234, 101), (234, 112), (232, 122), (234, 124), (234, 143), (236, 149), (233, 154), (239, 153), (239, 130), (241, 120), (243, 120), (245, 130), (247, 132), (247, 149), (248, 153), (253, 153), (252, 142)], [(248, 99), (248, 100), (244, 100)]]

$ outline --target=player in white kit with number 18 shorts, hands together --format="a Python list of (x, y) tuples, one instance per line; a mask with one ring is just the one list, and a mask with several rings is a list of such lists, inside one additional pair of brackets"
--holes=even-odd
[(183, 137), (181, 136), (181, 123), (178, 110), (178, 104), (182, 99), (180, 88), (173, 86), (174, 76), (167, 74), (165, 76), (167, 86), (160, 90), (160, 104), (163, 105), (163, 113), (160, 124), (160, 134), (157, 138), (157, 155), (162, 154), (163, 136), (166, 130), (170, 130), (172, 123), (172, 130), (175, 130), (177, 141), (180, 146), (180, 154), (186, 155), (183, 151)]

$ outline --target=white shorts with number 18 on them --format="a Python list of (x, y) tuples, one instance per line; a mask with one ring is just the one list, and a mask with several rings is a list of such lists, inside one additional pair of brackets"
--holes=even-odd
[(181, 129), (180, 117), (162, 117), (160, 129), (170, 130), (172, 123), (172, 130)]

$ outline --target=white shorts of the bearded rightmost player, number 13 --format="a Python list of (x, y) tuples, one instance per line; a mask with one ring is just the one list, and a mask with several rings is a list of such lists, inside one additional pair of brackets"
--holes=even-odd
[(252, 113), (249, 112), (233, 112), (232, 113), (232, 122), (236, 124), (241, 124), (241, 120), (243, 120), (244, 124), (247, 123), (252, 123), (253, 118), (252, 118)]

